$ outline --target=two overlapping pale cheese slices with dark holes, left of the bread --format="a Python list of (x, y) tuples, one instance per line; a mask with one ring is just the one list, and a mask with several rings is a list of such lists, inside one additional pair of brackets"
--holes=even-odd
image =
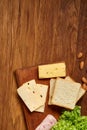
[(44, 112), (47, 90), (47, 85), (36, 84), (35, 80), (31, 80), (20, 86), (17, 93), (31, 112)]

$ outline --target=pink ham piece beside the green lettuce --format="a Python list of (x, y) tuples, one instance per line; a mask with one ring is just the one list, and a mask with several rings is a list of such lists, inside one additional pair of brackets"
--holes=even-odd
[(57, 120), (55, 119), (55, 117), (49, 114), (45, 117), (41, 124), (37, 126), (35, 130), (50, 130), (56, 122)]

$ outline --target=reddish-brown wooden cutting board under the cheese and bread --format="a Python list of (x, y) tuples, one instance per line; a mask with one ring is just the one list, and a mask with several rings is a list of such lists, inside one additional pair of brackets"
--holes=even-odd
[[(50, 79), (38, 79), (37, 66), (16, 70), (16, 80), (17, 80), (18, 87), (21, 86), (23, 83), (32, 79), (35, 79), (36, 83), (41, 83), (45, 85), (49, 85), (49, 81), (50, 81)], [(58, 119), (63, 108), (58, 106), (49, 106), (48, 97), (49, 94), (47, 94), (47, 100), (46, 100), (47, 102), (46, 102), (44, 113), (39, 113), (39, 112), (31, 113), (21, 100), (21, 105), (23, 107), (28, 130), (35, 130), (35, 128), (40, 124), (40, 122), (46, 117), (47, 114), (52, 114), (53, 116), (55, 116), (56, 119)], [(87, 115), (87, 93), (81, 98), (78, 104), (82, 106), (82, 115)]]

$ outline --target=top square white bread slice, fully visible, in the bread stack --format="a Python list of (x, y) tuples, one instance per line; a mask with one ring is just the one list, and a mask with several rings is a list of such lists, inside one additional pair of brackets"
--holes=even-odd
[(80, 83), (74, 83), (65, 79), (57, 78), (52, 97), (52, 104), (74, 109), (80, 87)]

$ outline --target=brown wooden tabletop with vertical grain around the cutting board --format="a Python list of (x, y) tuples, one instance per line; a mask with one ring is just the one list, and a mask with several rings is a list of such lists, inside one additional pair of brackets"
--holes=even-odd
[(87, 77), (87, 1), (1, 0), (0, 130), (27, 130), (14, 71), (60, 61), (76, 81)]

